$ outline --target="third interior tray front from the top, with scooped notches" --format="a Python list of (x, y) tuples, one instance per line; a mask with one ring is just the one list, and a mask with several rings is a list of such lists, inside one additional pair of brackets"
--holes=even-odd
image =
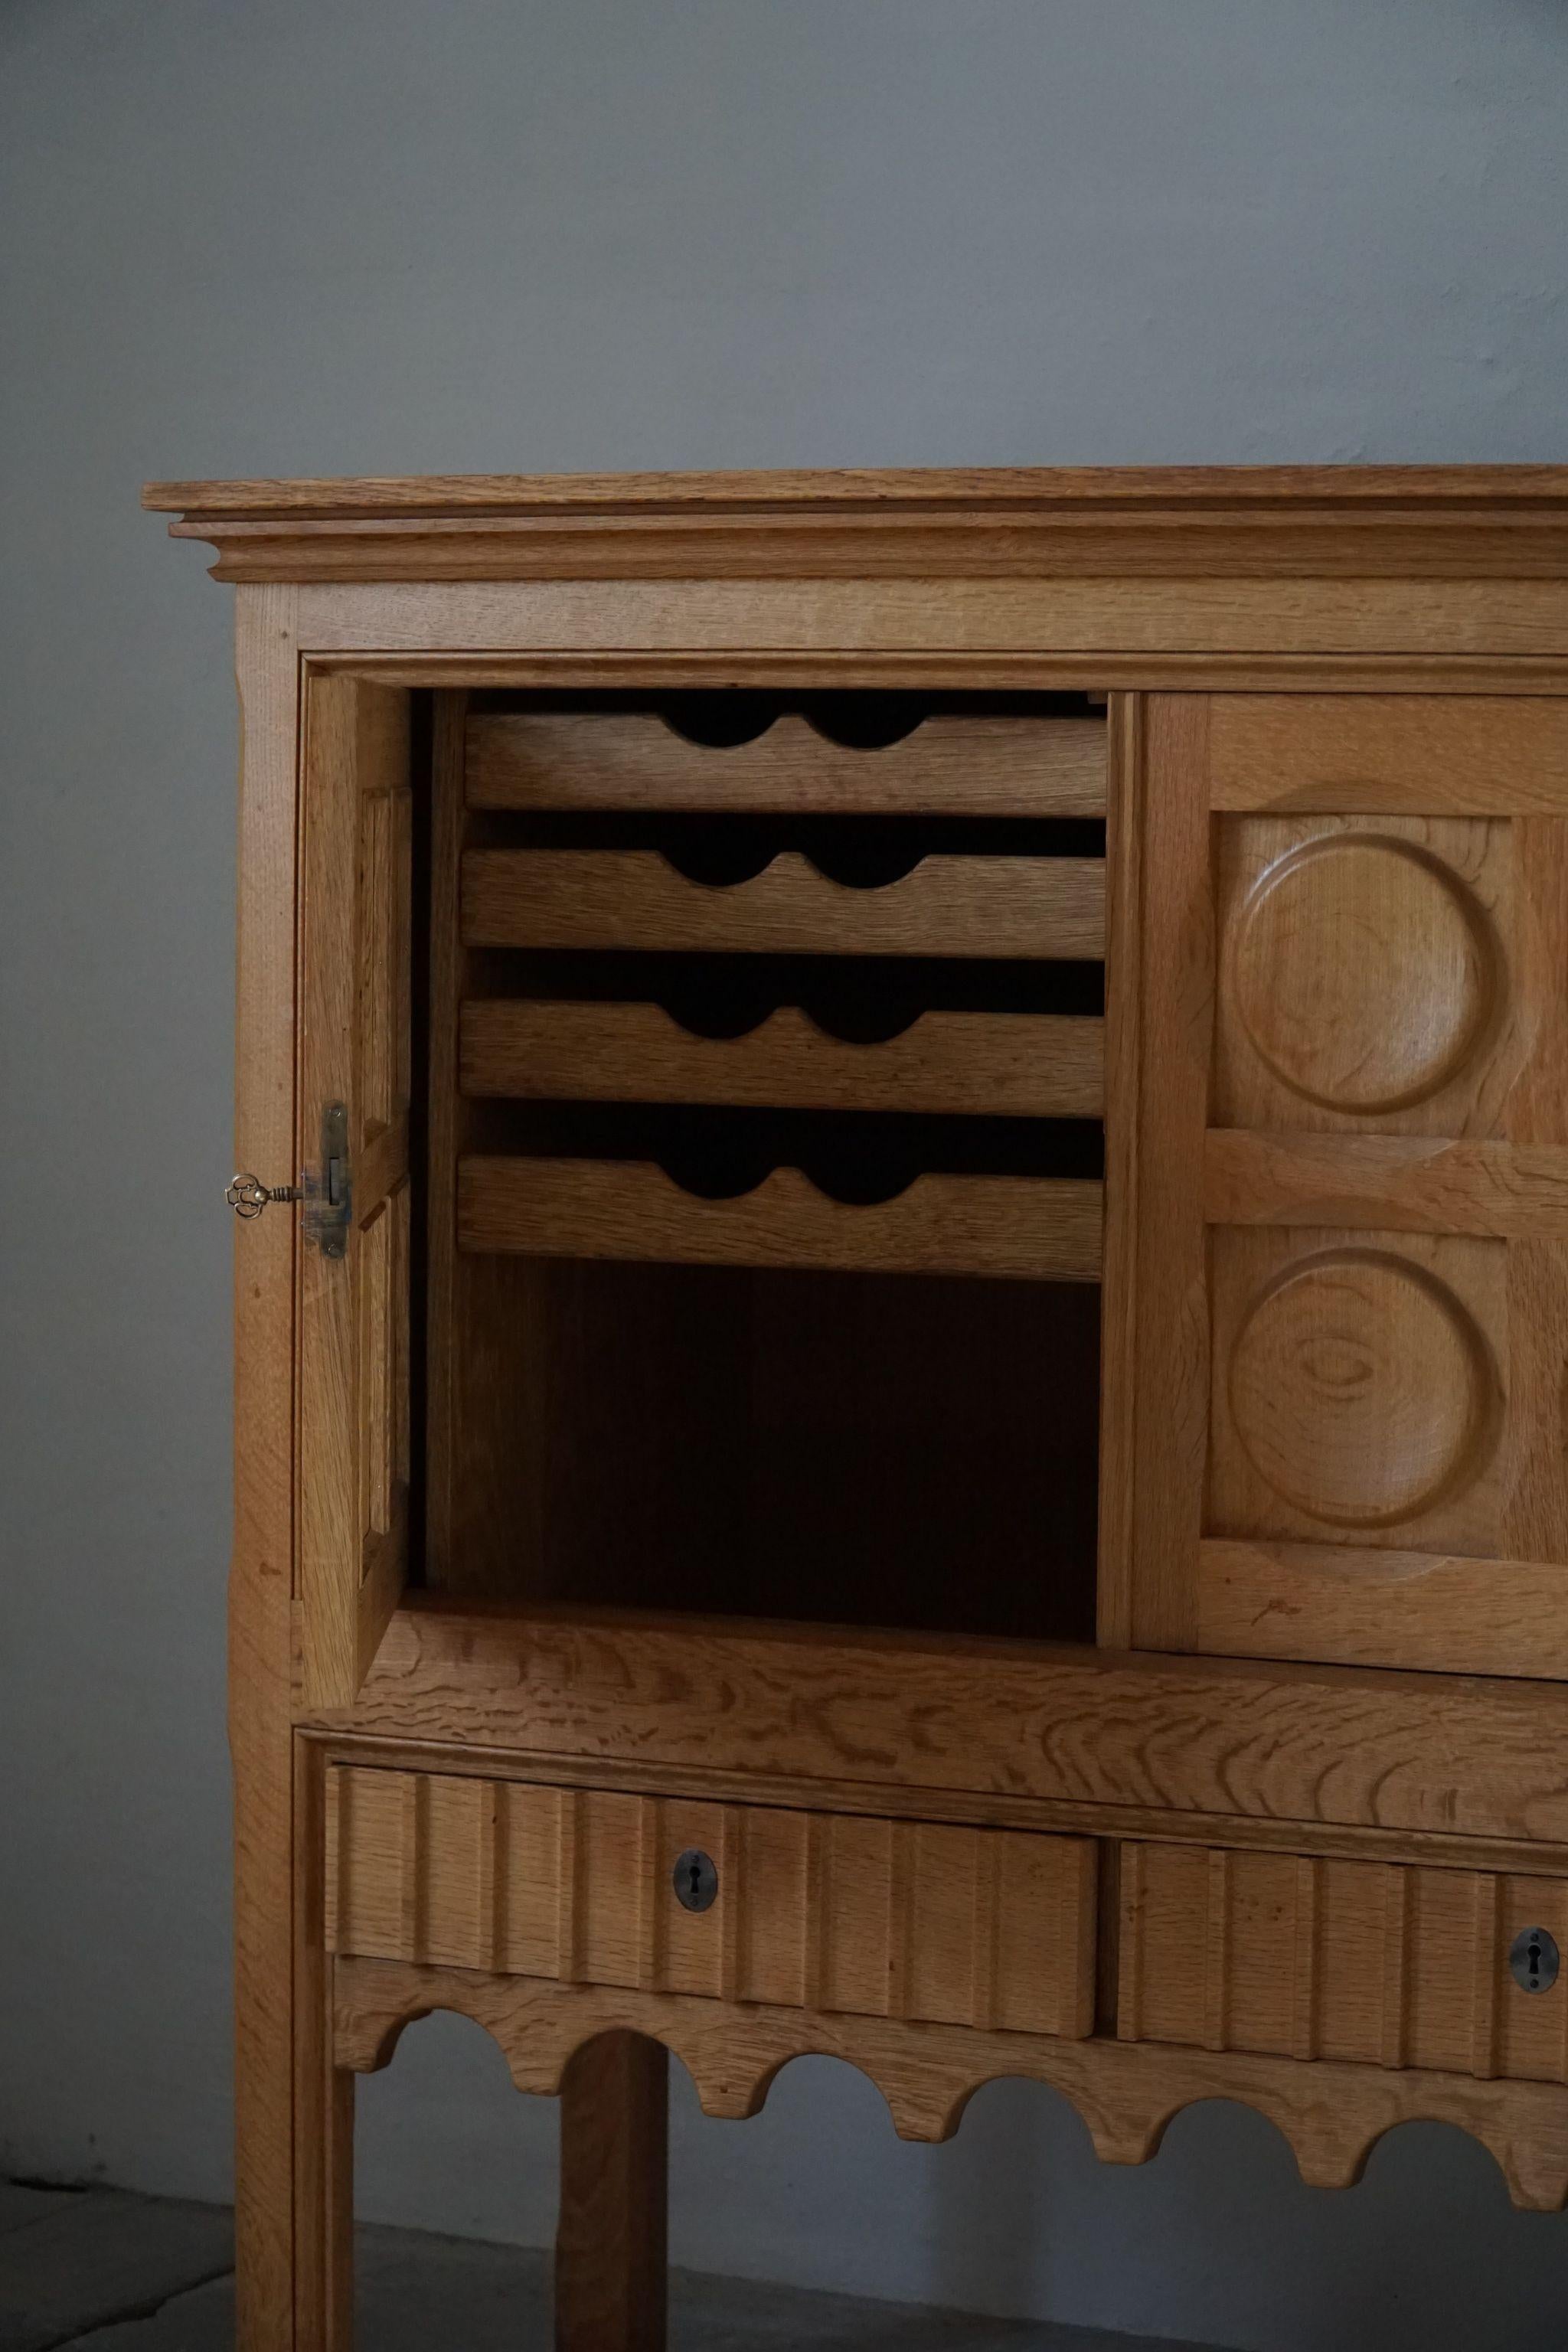
[(538, 1101), (1093, 1120), (1105, 1098), (1105, 1023), (936, 1011), (882, 1044), (846, 1044), (799, 1007), (741, 1037), (693, 1037), (658, 1004), (491, 997), (463, 1004), (461, 1087)]

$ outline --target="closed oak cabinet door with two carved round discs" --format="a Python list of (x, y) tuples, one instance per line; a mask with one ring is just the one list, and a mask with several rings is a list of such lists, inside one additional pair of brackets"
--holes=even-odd
[(1150, 696), (1124, 783), (1117, 1630), (1568, 1677), (1568, 706)]

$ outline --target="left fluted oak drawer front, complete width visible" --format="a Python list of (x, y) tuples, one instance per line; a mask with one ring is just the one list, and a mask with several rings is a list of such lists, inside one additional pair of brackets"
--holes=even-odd
[[(717, 1867), (708, 1910), (682, 1853)], [(334, 1766), (327, 1945), (557, 1983), (1084, 2037), (1095, 1846)]]

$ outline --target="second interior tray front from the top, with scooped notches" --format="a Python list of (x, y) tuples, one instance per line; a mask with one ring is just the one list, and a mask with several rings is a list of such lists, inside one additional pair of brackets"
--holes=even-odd
[(470, 849), (468, 948), (729, 955), (1105, 955), (1103, 858), (922, 858), (851, 889), (799, 851), (750, 882), (689, 882), (654, 849)]

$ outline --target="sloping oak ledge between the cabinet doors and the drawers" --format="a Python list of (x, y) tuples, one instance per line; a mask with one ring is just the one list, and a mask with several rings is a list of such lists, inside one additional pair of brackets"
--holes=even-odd
[(1568, 1844), (1561, 1712), (1469, 1675), (421, 1599), (315, 1726), (858, 1780), (867, 1806), (891, 1785)]

